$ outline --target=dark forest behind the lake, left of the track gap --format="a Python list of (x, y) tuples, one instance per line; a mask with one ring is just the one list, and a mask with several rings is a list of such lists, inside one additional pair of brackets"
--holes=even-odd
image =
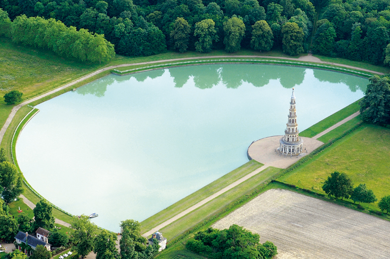
[(116, 53), (128, 56), (152, 55), (166, 49), (236, 52), (282, 46), (286, 53), (296, 55), (307, 51), (306, 40), (316, 17), (308, 0), (2, 0), (0, 8), (11, 20), (22, 14), (40, 16), (104, 34)]

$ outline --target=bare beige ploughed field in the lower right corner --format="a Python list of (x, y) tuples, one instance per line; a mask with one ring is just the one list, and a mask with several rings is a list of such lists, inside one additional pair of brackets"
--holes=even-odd
[(390, 258), (390, 222), (302, 194), (272, 189), (213, 227), (232, 224), (278, 247), (275, 258)]

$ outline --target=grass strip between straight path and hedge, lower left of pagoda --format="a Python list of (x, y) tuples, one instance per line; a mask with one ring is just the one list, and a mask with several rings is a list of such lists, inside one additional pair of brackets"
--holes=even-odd
[[(193, 210), (192, 212), (184, 215), (184, 217), (169, 224), (168, 226), (162, 228), (159, 231), (161, 231), (164, 234), (164, 236), (168, 238), (168, 240), (172, 239), (180, 235), (187, 229), (197, 225), (198, 223), (203, 222), (212, 214), (217, 213), (221, 209), (224, 209), (225, 206), (239, 199), (240, 197), (246, 195), (251, 190), (255, 189), (260, 184), (266, 182), (281, 170), (282, 169), (276, 167), (267, 167), (261, 172), (259, 172), (259, 174), (251, 177), (250, 179), (230, 189), (229, 191), (219, 195), (215, 199), (209, 201), (203, 206), (197, 208), (196, 210)], [(249, 200), (250, 199), (248, 199), (246, 202), (248, 202)], [(240, 206), (241, 205), (242, 204), (240, 204)]]

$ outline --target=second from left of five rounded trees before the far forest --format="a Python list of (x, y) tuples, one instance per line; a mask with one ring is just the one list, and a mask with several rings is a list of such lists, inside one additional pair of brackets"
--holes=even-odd
[(210, 52), (213, 41), (218, 41), (215, 22), (211, 19), (205, 19), (195, 24), (194, 36), (199, 39), (195, 42), (197, 52)]

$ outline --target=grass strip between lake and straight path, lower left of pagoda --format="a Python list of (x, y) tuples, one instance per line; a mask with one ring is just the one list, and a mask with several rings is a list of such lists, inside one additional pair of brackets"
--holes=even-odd
[(160, 225), (161, 223), (171, 219), (180, 212), (186, 210), (187, 208), (197, 204), (198, 202), (204, 200), (205, 198), (211, 196), (212, 194), (218, 192), (219, 190), (225, 188), (226, 186), (236, 182), (237, 180), (248, 175), (250, 172), (261, 167), (263, 164), (251, 160), (242, 166), (232, 170), (228, 174), (218, 178), (214, 182), (206, 185), (202, 189), (188, 195), (187, 197), (179, 200), (178, 202), (172, 204), (168, 208), (160, 211), (159, 213), (153, 215), (152, 217), (141, 222), (141, 233), (145, 233), (151, 230), (153, 227)]

